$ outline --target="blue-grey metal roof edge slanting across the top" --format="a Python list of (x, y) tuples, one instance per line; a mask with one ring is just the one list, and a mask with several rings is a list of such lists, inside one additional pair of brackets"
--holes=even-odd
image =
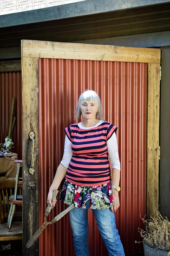
[[(109, 5), (106, 5), (105, 1), (85, 0), (60, 6), (36, 9), (32, 11), (5, 14), (0, 15), (0, 27), (13, 27), (47, 20), (60, 20), (94, 13), (106, 13), (108, 11), (112, 12), (128, 8), (155, 5), (154, 1), (140, 1), (138, 6), (134, 6), (135, 2), (137, 3), (137, 1), (134, 0), (129, 0), (127, 2), (119, 1), (119, 6), (117, 6), (113, 0), (109, 1)], [(170, 0), (157, 0), (156, 5), (164, 3), (170, 3)]]

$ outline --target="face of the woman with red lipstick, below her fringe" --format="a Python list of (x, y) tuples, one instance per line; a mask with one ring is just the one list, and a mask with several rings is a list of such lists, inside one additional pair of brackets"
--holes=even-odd
[(96, 113), (98, 111), (97, 101), (81, 101), (81, 113), (84, 119), (96, 119)]

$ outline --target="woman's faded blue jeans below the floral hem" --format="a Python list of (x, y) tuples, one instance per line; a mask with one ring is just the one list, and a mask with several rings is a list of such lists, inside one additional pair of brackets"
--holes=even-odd
[[(92, 209), (92, 211), (109, 256), (124, 256), (123, 245), (116, 228), (114, 212), (111, 212), (109, 208), (103, 210)], [(76, 256), (90, 256), (87, 210), (75, 207), (69, 214)]]

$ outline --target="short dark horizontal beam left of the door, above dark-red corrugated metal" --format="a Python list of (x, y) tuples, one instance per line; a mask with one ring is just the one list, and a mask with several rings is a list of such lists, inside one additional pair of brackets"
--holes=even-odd
[(0, 72), (20, 72), (21, 61), (0, 61)]

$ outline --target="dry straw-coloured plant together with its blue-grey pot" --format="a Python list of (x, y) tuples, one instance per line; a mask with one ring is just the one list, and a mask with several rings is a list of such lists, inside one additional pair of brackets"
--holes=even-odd
[(138, 229), (144, 238), (145, 256), (170, 256), (170, 221), (167, 217), (163, 218), (157, 211), (155, 217), (145, 220), (145, 230)]

